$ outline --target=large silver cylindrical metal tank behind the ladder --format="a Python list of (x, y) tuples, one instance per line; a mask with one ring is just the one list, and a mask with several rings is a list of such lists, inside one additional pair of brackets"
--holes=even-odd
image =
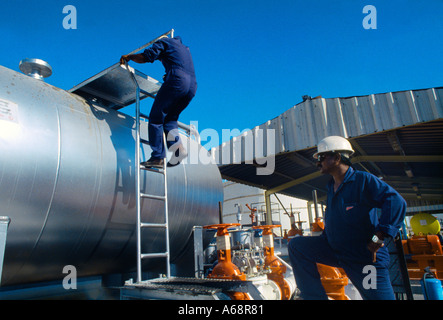
[[(147, 139), (147, 125), (141, 128)], [(11, 218), (2, 286), (62, 279), (66, 265), (77, 276), (134, 270), (134, 129), (130, 116), (0, 66), (0, 215)], [(201, 148), (182, 138), (191, 152)], [(150, 153), (144, 145), (142, 158)], [(142, 171), (141, 185), (163, 193), (160, 174)], [(192, 227), (218, 222), (217, 166), (168, 168), (168, 198), (171, 263), (179, 266)], [(163, 202), (142, 200), (143, 222), (162, 217)], [(164, 250), (163, 235), (144, 229), (142, 252)], [(164, 260), (148, 260), (144, 271)]]

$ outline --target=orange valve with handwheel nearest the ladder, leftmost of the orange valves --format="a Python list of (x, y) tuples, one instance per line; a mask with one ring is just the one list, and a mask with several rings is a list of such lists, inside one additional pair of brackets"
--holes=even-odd
[(231, 241), (228, 228), (240, 226), (239, 223), (223, 223), (204, 226), (204, 229), (217, 229), (218, 263), (208, 275), (209, 278), (246, 280), (246, 275), (231, 261)]

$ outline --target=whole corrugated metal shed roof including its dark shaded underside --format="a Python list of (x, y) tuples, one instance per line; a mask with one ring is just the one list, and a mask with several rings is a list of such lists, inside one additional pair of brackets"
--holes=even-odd
[[(410, 203), (443, 203), (442, 87), (308, 99), (219, 146), (213, 156), (228, 180), (266, 190), (283, 185), (279, 192), (310, 200), (313, 189), (325, 195), (330, 179), (312, 158), (317, 142), (330, 135), (349, 138), (354, 167), (382, 177)], [(275, 160), (270, 175), (257, 174), (266, 166), (263, 157)]]

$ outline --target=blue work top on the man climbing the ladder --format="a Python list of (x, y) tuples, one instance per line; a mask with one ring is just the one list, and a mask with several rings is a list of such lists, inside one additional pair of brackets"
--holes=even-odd
[(178, 36), (163, 38), (154, 42), (152, 46), (143, 51), (143, 55), (147, 60), (146, 62), (161, 61), (165, 67), (166, 78), (174, 69), (180, 69), (195, 77), (191, 52)]

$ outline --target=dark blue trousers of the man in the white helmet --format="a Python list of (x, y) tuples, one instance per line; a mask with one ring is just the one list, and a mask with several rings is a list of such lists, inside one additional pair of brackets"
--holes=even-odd
[[(364, 249), (366, 248), (362, 248)], [(395, 300), (386, 263), (373, 264), (376, 270), (376, 287), (368, 288), (364, 282), (365, 277), (369, 276), (369, 272), (364, 271), (367, 264), (339, 258), (324, 236), (293, 238), (289, 243), (289, 258), (297, 287), (304, 300), (328, 299), (316, 263), (343, 268), (364, 300)]]

